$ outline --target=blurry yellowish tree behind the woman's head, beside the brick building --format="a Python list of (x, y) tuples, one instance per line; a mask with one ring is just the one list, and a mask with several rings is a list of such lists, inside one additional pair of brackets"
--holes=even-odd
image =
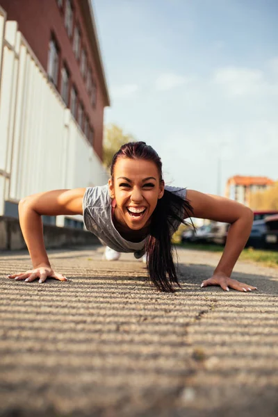
[(130, 133), (124, 133), (116, 124), (108, 124), (104, 128), (104, 158), (103, 162), (106, 167), (111, 166), (114, 154), (124, 143), (135, 142), (136, 139)]

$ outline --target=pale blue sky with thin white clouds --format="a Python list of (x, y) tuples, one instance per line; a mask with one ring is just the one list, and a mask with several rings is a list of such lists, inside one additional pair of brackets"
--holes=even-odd
[(278, 179), (277, 0), (93, 0), (111, 107), (165, 183)]

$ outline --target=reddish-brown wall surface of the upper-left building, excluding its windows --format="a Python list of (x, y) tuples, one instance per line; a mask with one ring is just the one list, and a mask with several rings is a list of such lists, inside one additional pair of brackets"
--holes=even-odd
[(70, 70), (70, 88), (72, 83), (76, 85), (84, 106), (85, 114), (88, 115), (90, 126), (94, 129), (94, 149), (102, 159), (102, 138), (104, 121), (105, 95), (101, 88), (101, 76), (97, 70), (96, 61), (86, 31), (85, 21), (81, 13), (81, 2), (73, 0), (74, 22), (78, 21), (81, 28), (81, 44), (88, 54), (88, 64), (92, 68), (93, 79), (97, 85), (97, 104), (92, 107), (85, 81), (81, 75), (80, 63), (74, 56), (72, 39), (67, 35), (64, 24), (65, 0), (63, 8), (58, 7), (56, 0), (0, 0), (0, 6), (6, 10), (8, 20), (16, 20), (19, 24), (19, 31), (26, 38), (31, 49), (33, 49), (38, 60), (47, 71), (47, 60), (49, 52), (49, 41), (54, 33), (58, 46), (60, 47), (60, 68), (58, 72), (58, 91), (60, 92), (61, 80), (60, 70), (65, 62)]

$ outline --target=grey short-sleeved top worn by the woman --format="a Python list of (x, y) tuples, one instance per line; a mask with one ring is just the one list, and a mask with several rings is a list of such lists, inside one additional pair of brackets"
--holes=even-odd
[[(172, 191), (186, 199), (186, 188), (165, 186), (165, 190)], [(117, 252), (134, 252), (136, 257), (145, 253), (147, 238), (141, 242), (129, 242), (122, 238), (112, 220), (112, 199), (106, 186), (88, 187), (83, 197), (83, 221), (85, 228), (95, 234), (103, 245), (111, 247)], [(171, 235), (179, 228), (181, 222), (174, 220)]]

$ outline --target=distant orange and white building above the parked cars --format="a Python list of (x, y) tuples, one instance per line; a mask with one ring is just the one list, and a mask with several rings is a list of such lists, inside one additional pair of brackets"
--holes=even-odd
[(243, 177), (236, 175), (228, 179), (225, 197), (250, 207), (251, 193), (266, 190), (275, 183), (268, 177)]

